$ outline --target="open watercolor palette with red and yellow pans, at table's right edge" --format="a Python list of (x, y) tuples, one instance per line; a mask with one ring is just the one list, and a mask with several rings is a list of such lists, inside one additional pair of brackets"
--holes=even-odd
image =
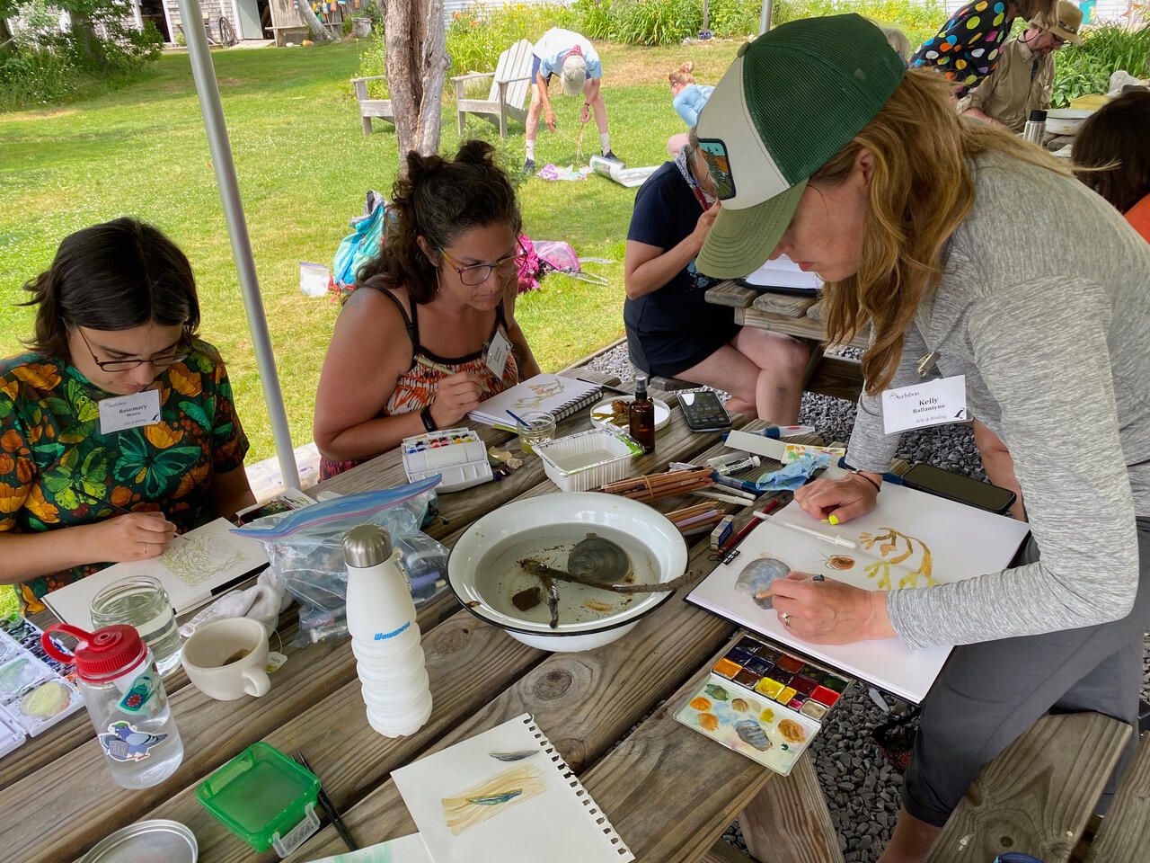
[(746, 635), (712, 666), (675, 719), (787, 776), (852, 682)]

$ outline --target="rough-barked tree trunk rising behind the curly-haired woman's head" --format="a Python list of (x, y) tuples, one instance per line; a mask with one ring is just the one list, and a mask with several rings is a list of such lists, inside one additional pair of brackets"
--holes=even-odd
[(384, 52), (388, 91), (396, 112), (399, 170), (412, 150), (439, 150), (439, 102), (447, 74), (443, 0), (386, 0)]

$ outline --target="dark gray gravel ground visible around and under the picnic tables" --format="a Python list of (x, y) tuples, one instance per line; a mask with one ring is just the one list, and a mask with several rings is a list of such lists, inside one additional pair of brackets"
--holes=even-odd
[[(626, 345), (595, 358), (588, 367), (616, 374), (624, 381), (634, 377)], [(814, 426), (827, 441), (845, 442), (854, 423), (854, 411), (852, 402), (807, 392), (803, 396), (799, 422)], [(938, 426), (904, 434), (898, 456), (911, 464), (927, 461), (979, 480), (986, 479), (974, 437), (965, 426)], [(1150, 695), (1150, 637), (1147, 646), (1142, 685), (1144, 698)], [(830, 711), (822, 733), (811, 746), (815, 772), (848, 863), (876, 860), (889, 841), (898, 816), (902, 774), (887, 764), (882, 751), (871, 739), (871, 731), (888, 718), (868, 697), (865, 687), (852, 687)], [(742, 850), (746, 849), (737, 823), (723, 833), (723, 839)]]

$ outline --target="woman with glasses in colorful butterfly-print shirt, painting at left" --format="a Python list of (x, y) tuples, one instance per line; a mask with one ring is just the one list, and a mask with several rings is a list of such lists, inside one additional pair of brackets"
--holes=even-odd
[[(192, 268), (170, 239), (135, 219), (97, 224), (24, 288), (31, 351), (0, 360), (0, 583), (36, 612), (49, 590), (158, 557), (255, 498), (228, 373), (195, 337)], [(139, 419), (117, 420), (116, 403)]]

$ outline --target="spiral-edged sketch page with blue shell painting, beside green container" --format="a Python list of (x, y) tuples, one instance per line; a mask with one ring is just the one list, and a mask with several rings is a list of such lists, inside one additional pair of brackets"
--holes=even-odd
[(530, 713), (391, 778), (435, 863), (635, 860)]

